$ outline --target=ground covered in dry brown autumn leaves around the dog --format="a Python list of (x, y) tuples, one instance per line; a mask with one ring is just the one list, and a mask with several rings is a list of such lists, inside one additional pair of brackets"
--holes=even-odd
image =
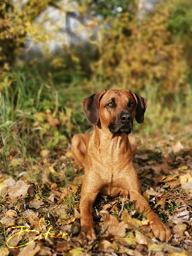
[(96, 199), (97, 236), (87, 241), (78, 209), (83, 171), (70, 149), (23, 159), (12, 148), (0, 163), (0, 256), (192, 255), (192, 148), (171, 136), (157, 145), (138, 138), (138, 145), (134, 164), (144, 197), (171, 229), (168, 243), (153, 237), (126, 193)]

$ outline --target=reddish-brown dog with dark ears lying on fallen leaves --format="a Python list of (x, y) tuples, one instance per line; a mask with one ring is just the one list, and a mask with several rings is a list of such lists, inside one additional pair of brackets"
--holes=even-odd
[(144, 122), (146, 106), (145, 99), (131, 90), (100, 90), (82, 101), (94, 133), (74, 136), (72, 153), (85, 168), (80, 216), (81, 233), (89, 239), (95, 238), (92, 204), (98, 193), (116, 197), (122, 190), (128, 191), (138, 211), (147, 213), (155, 237), (167, 241), (171, 235), (142, 196), (127, 135), (132, 132), (134, 118)]

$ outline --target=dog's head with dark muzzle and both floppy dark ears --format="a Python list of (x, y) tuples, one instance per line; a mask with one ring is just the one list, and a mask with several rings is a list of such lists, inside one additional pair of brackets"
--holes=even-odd
[(81, 104), (90, 124), (108, 127), (112, 134), (130, 134), (134, 118), (144, 122), (147, 107), (146, 100), (131, 90), (100, 90)]

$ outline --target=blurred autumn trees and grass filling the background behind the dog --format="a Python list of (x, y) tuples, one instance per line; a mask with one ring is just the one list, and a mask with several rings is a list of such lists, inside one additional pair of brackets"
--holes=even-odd
[(80, 102), (101, 89), (146, 98), (138, 136), (192, 138), (192, 2), (2, 0), (0, 150), (69, 147), (86, 132)]

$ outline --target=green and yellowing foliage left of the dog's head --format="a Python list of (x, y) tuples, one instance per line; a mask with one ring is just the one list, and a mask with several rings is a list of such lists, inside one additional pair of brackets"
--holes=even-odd
[(24, 155), (43, 148), (66, 148), (72, 134), (84, 127), (85, 119), (82, 111), (78, 114), (82, 118), (76, 117), (73, 104), (67, 106), (66, 88), (48, 84), (35, 69), (10, 74), (0, 94), (2, 156), (5, 158), (14, 147)]

